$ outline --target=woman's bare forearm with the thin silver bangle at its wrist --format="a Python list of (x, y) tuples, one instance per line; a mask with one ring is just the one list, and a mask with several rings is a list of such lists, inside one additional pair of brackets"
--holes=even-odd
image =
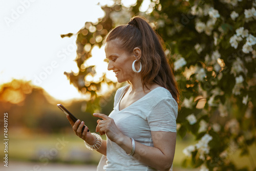
[[(130, 137), (123, 136), (116, 142), (127, 154), (132, 151), (132, 141)], [(135, 141), (135, 153), (133, 155), (137, 160), (145, 165), (151, 166), (158, 170), (169, 170), (173, 163), (173, 157), (162, 153), (159, 148), (147, 146)]]

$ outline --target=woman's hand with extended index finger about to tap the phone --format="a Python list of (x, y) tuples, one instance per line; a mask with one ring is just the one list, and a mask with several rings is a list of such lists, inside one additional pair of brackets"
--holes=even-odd
[(118, 130), (114, 119), (99, 113), (94, 113), (93, 116), (103, 119), (97, 120), (96, 132), (99, 132), (100, 135), (106, 134), (113, 142), (117, 142), (122, 138), (123, 134)]

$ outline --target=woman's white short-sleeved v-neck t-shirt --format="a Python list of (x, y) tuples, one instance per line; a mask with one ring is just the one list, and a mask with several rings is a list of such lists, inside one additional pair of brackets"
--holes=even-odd
[[(129, 86), (129, 85), (128, 85)], [(168, 90), (158, 87), (127, 108), (119, 111), (119, 102), (127, 86), (117, 90), (113, 118), (118, 129), (126, 136), (144, 145), (153, 146), (151, 131), (176, 132), (178, 104)], [(104, 170), (156, 170), (144, 165), (107, 138)]]

